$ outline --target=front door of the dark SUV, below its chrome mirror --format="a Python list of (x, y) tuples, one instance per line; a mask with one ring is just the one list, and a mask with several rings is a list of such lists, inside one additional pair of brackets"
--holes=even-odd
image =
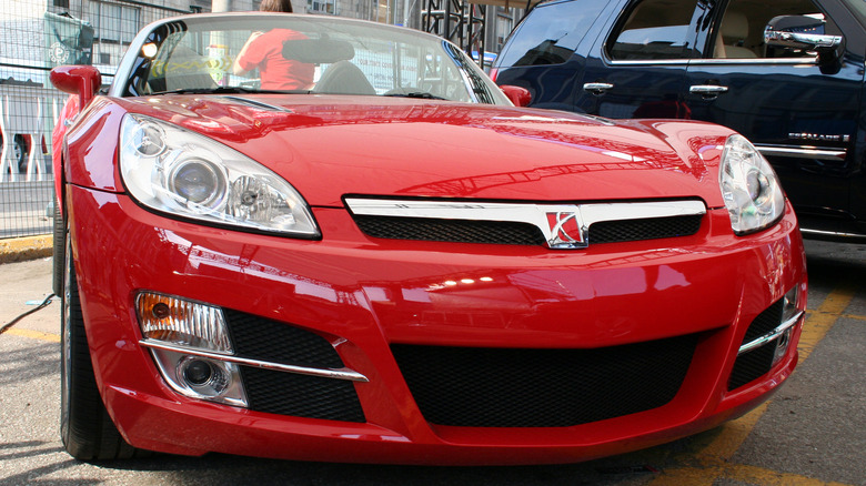
[(689, 63), (685, 93), (692, 118), (729, 126), (761, 150), (782, 179), (802, 224), (812, 231), (838, 231), (842, 226), (834, 220), (842, 224), (856, 216), (849, 191), (852, 178), (862, 169), (854, 149), (864, 47), (859, 36), (849, 36), (846, 45), (817, 55), (808, 49), (768, 44), (764, 32), (768, 23), (779, 22), (773, 20), (777, 16), (806, 16), (816, 20), (815, 26), (824, 22), (802, 29), (805, 33), (843, 36), (836, 19), (849, 21), (849, 16), (828, 11), (826, 3), (719, 2), (714, 21), (699, 32), (705, 54)]

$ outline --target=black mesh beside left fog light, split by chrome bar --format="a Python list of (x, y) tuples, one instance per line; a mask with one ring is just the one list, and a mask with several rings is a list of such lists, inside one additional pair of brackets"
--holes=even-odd
[[(313, 368), (341, 368), (324, 337), (289, 324), (223, 310), (240, 357)], [(250, 409), (298, 417), (364, 422), (351, 382), (241, 366)]]

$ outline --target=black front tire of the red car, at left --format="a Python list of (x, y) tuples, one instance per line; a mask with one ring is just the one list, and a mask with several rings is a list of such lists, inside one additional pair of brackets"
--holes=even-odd
[[(64, 235), (66, 236), (66, 232)], [(64, 237), (60, 356), (60, 436), (80, 460), (125, 459), (140, 455), (121, 437), (99, 395), (69, 239)]]

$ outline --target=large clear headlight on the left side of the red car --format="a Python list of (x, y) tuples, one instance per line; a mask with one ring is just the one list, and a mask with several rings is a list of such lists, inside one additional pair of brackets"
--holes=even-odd
[(301, 194), (252, 159), (198, 133), (128, 114), (120, 174), (141, 204), (198, 221), (316, 237)]

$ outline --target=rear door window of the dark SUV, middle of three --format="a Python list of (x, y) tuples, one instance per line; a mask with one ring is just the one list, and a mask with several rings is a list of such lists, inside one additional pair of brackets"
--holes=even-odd
[(688, 26), (696, 0), (644, 0), (632, 9), (607, 43), (614, 60), (691, 58)]

